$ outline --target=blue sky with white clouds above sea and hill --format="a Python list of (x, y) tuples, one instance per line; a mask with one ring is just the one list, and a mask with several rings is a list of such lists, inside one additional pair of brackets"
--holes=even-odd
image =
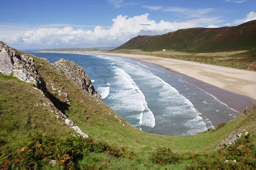
[(17, 49), (119, 46), (138, 35), (234, 26), (256, 0), (0, 0), (0, 41)]

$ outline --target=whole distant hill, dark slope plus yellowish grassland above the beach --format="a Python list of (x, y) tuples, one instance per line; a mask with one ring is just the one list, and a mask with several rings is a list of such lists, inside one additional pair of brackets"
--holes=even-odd
[(232, 27), (189, 28), (163, 35), (139, 35), (110, 52), (256, 71), (256, 20)]

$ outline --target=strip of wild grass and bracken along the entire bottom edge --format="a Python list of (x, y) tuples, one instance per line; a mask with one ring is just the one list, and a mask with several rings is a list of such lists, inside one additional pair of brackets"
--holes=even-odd
[(236, 144), (205, 153), (173, 152), (169, 148), (128, 152), (79, 136), (32, 133), (12, 154), (0, 141), (1, 169), (255, 169), (256, 136), (243, 135)]

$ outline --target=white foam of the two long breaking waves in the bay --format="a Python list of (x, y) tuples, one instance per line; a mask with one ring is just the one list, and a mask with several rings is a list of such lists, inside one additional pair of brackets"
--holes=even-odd
[[(159, 100), (160, 102), (165, 105), (166, 109), (162, 113), (165, 116), (170, 117), (170, 115), (174, 116), (180, 116), (180, 117), (186, 117), (187, 121), (184, 121), (184, 125), (187, 127), (191, 127), (191, 131), (189, 134), (196, 134), (198, 132), (207, 130), (207, 127), (213, 127), (212, 123), (209, 119), (207, 119), (204, 115), (199, 113), (193, 104), (182, 94), (180, 94), (177, 89), (170, 86), (170, 84), (163, 81), (163, 79), (157, 77), (154, 75), (154, 73), (141, 68), (139, 65), (135, 65), (134, 67), (130, 63), (123, 63), (120, 59), (110, 57), (110, 56), (97, 56), (99, 58), (109, 59), (111, 61), (118, 61), (118, 63), (122, 63), (123, 69), (120, 69), (118, 67), (115, 67), (111, 65), (109, 69), (113, 70), (118, 79), (118, 86), (120, 86), (119, 91), (115, 91), (113, 95), (109, 95), (109, 98), (113, 98), (116, 100), (119, 100), (121, 102), (122, 106), (118, 105), (118, 103), (115, 103), (113, 105), (116, 106), (119, 109), (131, 109), (138, 112), (141, 112), (140, 115), (138, 115), (139, 124), (154, 127), (155, 126), (155, 117), (151, 110), (147, 106), (147, 102), (145, 100), (144, 94), (141, 92), (139, 87), (136, 85), (136, 83), (133, 81), (131, 75), (136, 75), (141, 80), (147, 81), (148, 84), (152, 88), (156, 88), (157, 92), (159, 92), (159, 97), (156, 98), (156, 100)], [(112, 63), (111, 63), (112, 64)], [(147, 67), (146, 65), (141, 64), (142, 67)], [(129, 74), (127, 74), (129, 73)], [(181, 83), (186, 83), (186, 81), (180, 81)], [(185, 85), (186, 86), (186, 85)], [(186, 86), (187, 87), (187, 86)], [(111, 88), (112, 89), (112, 88)], [(188, 87), (187, 87), (188, 89)], [(205, 102), (206, 103), (206, 102)], [(170, 104), (170, 105), (169, 105)], [(110, 106), (113, 107), (113, 106)], [(115, 108), (114, 108), (115, 109)], [(204, 118), (202, 118), (204, 117)], [(170, 117), (171, 118), (171, 117)]]

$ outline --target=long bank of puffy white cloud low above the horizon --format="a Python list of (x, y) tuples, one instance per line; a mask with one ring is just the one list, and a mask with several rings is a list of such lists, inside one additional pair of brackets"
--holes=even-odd
[[(72, 26), (64, 28), (39, 28), (27, 30), (25, 33), (9, 36), (0, 35), (0, 40), (9, 45), (17, 46), (42, 46), (52, 45), (85, 45), (85, 44), (122, 44), (137, 35), (156, 35), (175, 31), (181, 28), (192, 28), (198, 26), (193, 22), (169, 22), (148, 19), (149, 14), (138, 15), (128, 18), (128, 16), (118, 15), (113, 19), (113, 24), (109, 29), (96, 26), (94, 30), (73, 29)], [(94, 46), (94, 45), (93, 45)]]

